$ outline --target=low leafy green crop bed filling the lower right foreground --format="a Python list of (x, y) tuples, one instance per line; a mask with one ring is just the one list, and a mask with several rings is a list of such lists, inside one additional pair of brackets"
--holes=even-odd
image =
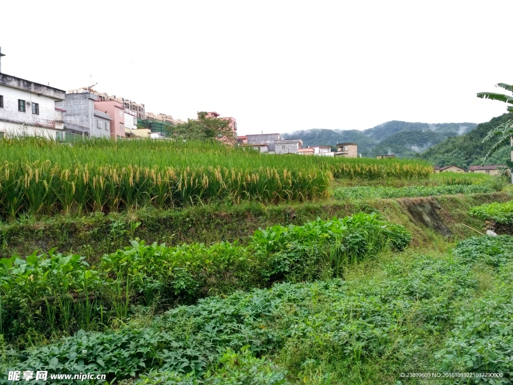
[[(488, 275), (503, 283), (472, 299), (480, 287), (473, 267), (488, 264), (487, 257), (497, 253), (504, 258), (491, 261)], [(471, 238), (453, 256), (393, 259), (370, 279), (280, 283), (179, 306), (149, 326), (81, 331), (46, 347), (11, 353), (4, 371), (105, 373), (109, 380), (142, 375), (141, 384), (181, 385), (200, 383), (196, 378), (247, 383), (233, 378), (255, 378), (260, 372), (264, 378), (252, 383), (285, 383), (284, 369), (253, 358), (271, 354), (288, 378), (304, 383), (329, 383), (323, 368), (331, 369), (327, 375), (335, 383), (354, 383), (362, 374), (378, 383), (379, 373), (398, 378), (419, 364), (426, 372), (501, 373), (493, 383), (508, 383), (512, 260), (507, 237)], [(435, 340), (441, 342), (431, 352)], [(219, 382), (210, 382), (216, 378)]]

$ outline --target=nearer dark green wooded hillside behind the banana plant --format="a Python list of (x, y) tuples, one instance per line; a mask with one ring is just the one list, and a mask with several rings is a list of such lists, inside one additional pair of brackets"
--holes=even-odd
[[(491, 146), (495, 144), (493, 139), (482, 143), (486, 134), (492, 128), (511, 118), (513, 118), (513, 113), (505, 113), (500, 117), (491, 119), (489, 122), (478, 124), (476, 129), (462, 136), (447, 138), (443, 142), (430, 147), (422, 153), (421, 157), (431, 164), (441, 167), (456, 164), (466, 168), (471, 165), (481, 164), (481, 159), (486, 155)], [(504, 164), (509, 157), (509, 152), (500, 153), (498, 151), (486, 163)]]

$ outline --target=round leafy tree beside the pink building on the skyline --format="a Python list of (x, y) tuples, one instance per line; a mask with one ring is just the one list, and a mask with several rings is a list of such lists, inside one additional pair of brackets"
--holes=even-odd
[(173, 131), (180, 138), (189, 140), (218, 139), (227, 143), (235, 141), (230, 122), (209, 118), (205, 111), (198, 112), (198, 119), (188, 119), (187, 123), (173, 126)]

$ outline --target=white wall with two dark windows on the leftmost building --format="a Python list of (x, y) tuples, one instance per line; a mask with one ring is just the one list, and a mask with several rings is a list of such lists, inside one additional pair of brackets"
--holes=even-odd
[[(11, 135), (45, 133), (55, 138), (54, 99), (4, 85), (0, 85), (0, 95), (4, 97), (4, 108), (0, 108), (0, 131)], [(25, 112), (18, 111), (18, 99), (25, 101)], [(32, 103), (39, 105), (39, 114), (32, 113)]]

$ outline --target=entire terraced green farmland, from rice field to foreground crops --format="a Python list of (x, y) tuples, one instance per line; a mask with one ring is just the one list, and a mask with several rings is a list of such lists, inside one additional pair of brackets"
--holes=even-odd
[(477, 234), (509, 223), (500, 178), (206, 142), (0, 147), (0, 383), (510, 383), (513, 241)]

